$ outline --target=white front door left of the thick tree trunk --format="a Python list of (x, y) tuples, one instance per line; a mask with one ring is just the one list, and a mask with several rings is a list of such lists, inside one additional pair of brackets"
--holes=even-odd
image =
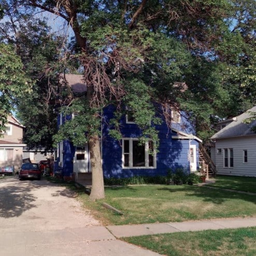
[(83, 147), (76, 147), (75, 157), (74, 157), (74, 172), (75, 173), (88, 173), (89, 163), (89, 153), (88, 144)]

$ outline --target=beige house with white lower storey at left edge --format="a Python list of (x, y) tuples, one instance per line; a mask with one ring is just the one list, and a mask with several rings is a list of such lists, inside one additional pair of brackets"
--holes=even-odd
[(0, 167), (14, 166), (15, 170), (22, 164), (24, 126), (13, 116), (8, 116), (6, 131), (0, 138)]

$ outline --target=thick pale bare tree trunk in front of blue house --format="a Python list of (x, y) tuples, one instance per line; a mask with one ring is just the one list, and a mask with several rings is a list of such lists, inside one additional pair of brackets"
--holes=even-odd
[(101, 150), (98, 135), (95, 135), (89, 139), (89, 150), (92, 167), (92, 190), (90, 200), (95, 201), (105, 197)]

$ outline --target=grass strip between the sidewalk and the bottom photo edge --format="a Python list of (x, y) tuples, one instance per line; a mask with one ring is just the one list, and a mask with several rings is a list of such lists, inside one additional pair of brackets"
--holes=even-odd
[(256, 227), (159, 234), (123, 240), (168, 256), (256, 255)]

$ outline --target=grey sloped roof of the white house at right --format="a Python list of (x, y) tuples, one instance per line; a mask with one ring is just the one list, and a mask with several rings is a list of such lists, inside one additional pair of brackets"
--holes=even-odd
[(213, 135), (211, 139), (255, 135), (251, 129), (256, 125), (256, 120), (249, 124), (244, 123), (244, 120), (251, 117), (252, 112), (256, 113), (256, 106), (247, 110), (240, 116), (233, 118), (234, 121), (232, 121), (230, 124), (227, 124), (222, 130)]

